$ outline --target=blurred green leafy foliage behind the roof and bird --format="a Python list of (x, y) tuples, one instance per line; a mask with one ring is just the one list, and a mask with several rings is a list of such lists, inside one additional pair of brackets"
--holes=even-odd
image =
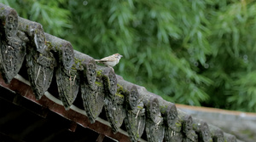
[(253, 0), (0, 0), (174, 103), (256, 111)]

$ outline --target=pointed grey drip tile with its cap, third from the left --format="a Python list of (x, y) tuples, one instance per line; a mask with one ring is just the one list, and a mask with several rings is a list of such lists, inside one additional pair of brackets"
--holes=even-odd
[(71, 43), (48, 33), (44, 33), (49, 50), (55, 54), (57, 67), (55, 71), (59, 96), (66, 110), (73, 105), (79, 93), (80, 62), (74, 62)]

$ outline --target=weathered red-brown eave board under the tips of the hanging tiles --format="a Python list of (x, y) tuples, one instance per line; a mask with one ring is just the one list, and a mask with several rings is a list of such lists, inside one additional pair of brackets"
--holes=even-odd
[[(17, 79), (14, 79), (12, 82), (10, 82), (10, 84), (5, 84), (0, 75), (0, 86), (2, 86), (5, 89), (14, 91), (17, 95), (22, 95), (24, 99), (27, 100), (24, 106), (27, 107), (27, 106), (38, 105), (35, 108), (27, 107), (27, 109), (32, 111), (37, 110), (35, 112), (38, 115), (41, 115), (41, 112), (38, 113), (38, 111), (42, 111), (42, 106), (43, 106), (43, 110), (44, 108), (47, 108), (47, 111), (48, 110), (53, 111), (56, 114), (63, 116), (64, 119), (77, 122), (79, 126), (82, 126), (83, 128), (86, 128), (86, 129), (89, 128), (90, 130), (93, 130), (97, 133), (102, 133), (108, 136), (109, 138), (117, 139), (122, 142), (129, 141), (129, 136), (127, 133), (123, 133), (123, 132), (113, 133), (110, 126), (108, 125), (108, 122), (102, 120), (101, 118), (99, 118), (95, 123), (91, 124), (88, 120), (88, 117), (84, 115), (83, 110), (80, 110), (79, 108), (74, 107), (69, 111), (66, 111), (63, 105), (58, 103), (58, 101), (55, 101), (57, 99), (53, 99), (54, 98), (53, 96), (52, 96), (53, 98), (49, 97), (50, 94), (47, 96), (44, 95), (40, 100), (35, 99), (34, 94), (32, 92), (32, 88), (26, 85), (26, 83), (21, 82)], [(13, 95), (8, 95), (8, 94), (0, 94), (0, 97), (2, 96), (4, 96), (7, 99), (10, 99), (11, 101), (14, 98)], [(30, 104), (27, 104), (27, 103), (30, 103)], [(86, 135), (86, 133), (84, 134)]]

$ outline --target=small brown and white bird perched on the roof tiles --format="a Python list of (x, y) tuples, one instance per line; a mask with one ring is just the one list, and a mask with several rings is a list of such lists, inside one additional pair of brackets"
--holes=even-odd
[(102, 58), (101, 60), (95, 60), (95, 61), (112, 68), (114, 65), (117, 65), (119, 63), (119, 60), (121, 59), (121, 57), (123, 56), (120, 54), (113, 54), (108, 57)]

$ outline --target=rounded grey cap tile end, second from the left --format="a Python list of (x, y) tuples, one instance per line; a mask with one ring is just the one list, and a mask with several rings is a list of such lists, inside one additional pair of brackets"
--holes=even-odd
[(44, 52), (46, 45), (44, 29), (41, 24), (19, 17), (18, 29), (26, 33), (31, 48), (34, 48), (41, 54)]

